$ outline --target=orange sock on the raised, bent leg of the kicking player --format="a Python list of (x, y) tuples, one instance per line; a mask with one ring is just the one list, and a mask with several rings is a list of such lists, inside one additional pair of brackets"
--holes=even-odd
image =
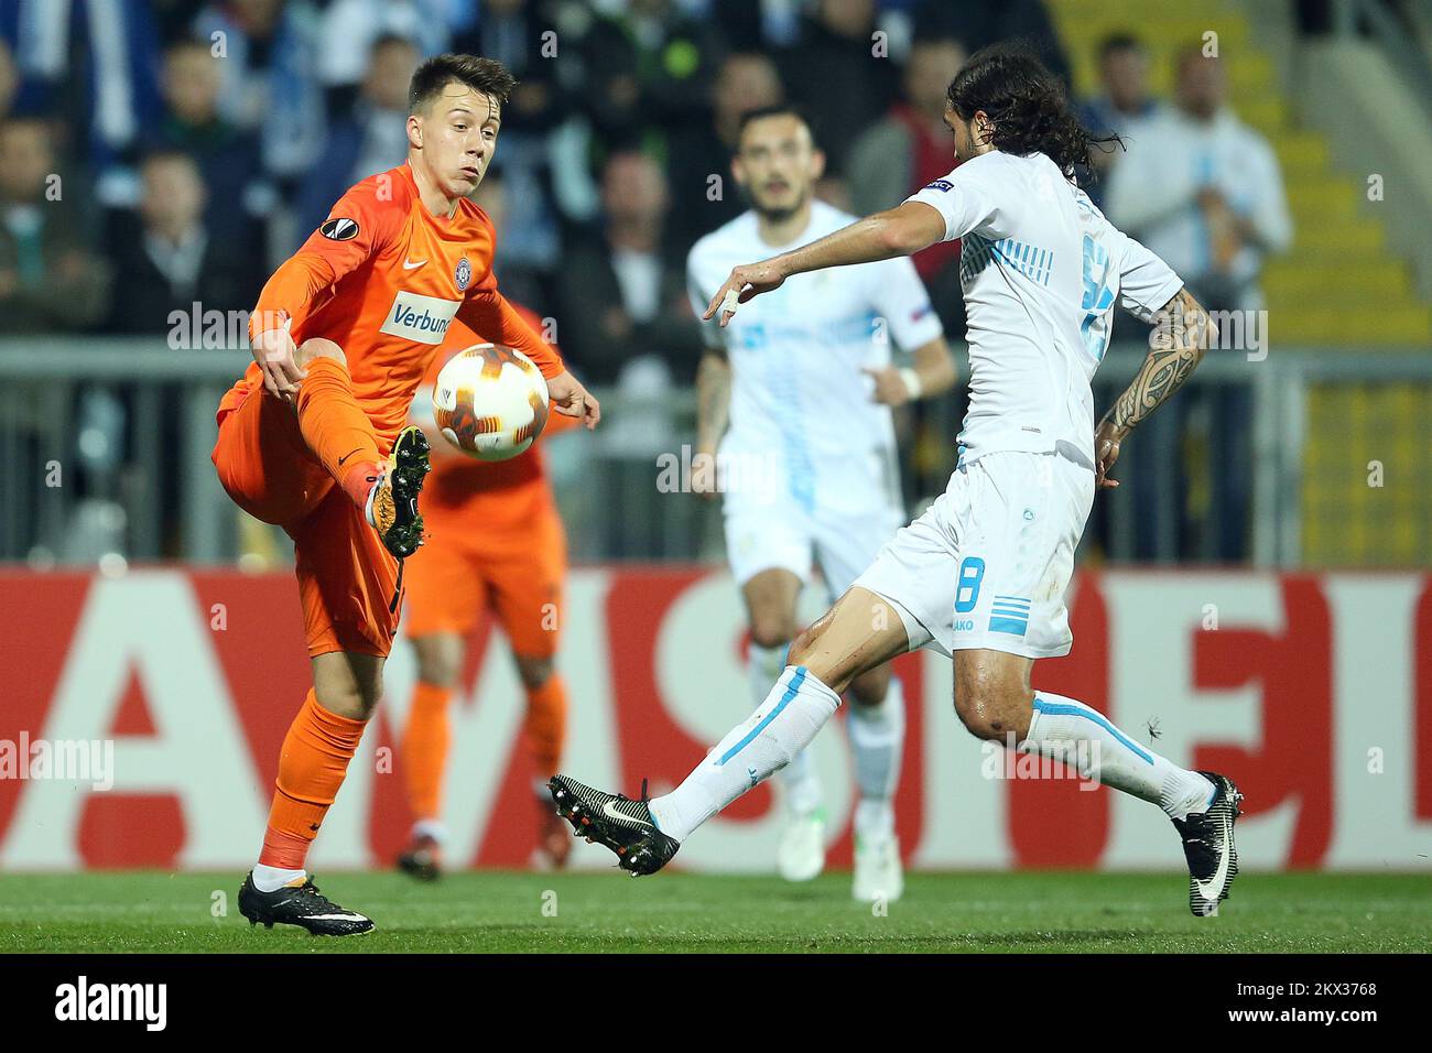
[(378, 438), (337, 358), (314, 358), (298, 385), (298, 430), (314, 456), (359, 509), (378, 480)]

